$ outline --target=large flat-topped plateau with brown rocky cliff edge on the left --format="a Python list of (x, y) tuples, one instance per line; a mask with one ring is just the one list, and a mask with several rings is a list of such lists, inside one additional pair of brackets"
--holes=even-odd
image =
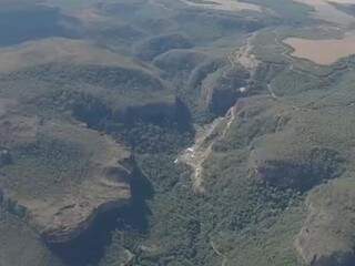
[(98, 214), (130, 202), (134, 163), (128, 149), (109, 136), (20, 113), (3, 114), (1, 123), (13, 135), (27, 133), (17, 142), (10, 135), (2, 139), (13, 153), (11, 163), (2, 165), (2, 202), (16, 214), (22, 209), (48, 243), (75, 238)]

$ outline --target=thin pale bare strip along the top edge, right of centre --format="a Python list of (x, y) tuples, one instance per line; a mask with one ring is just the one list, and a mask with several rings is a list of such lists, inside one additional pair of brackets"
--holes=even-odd
[(223, 11), (241, 11), (241, 10), (253, 10), (253, 11), (262, 11), (262, 8), (257, 4), (245, 3), (235, 0), (213, 0), (213, 1), (202, 1), (202, 0), (181, 0), (184, 3), (196, 7), (196, 8), (207, 8)]

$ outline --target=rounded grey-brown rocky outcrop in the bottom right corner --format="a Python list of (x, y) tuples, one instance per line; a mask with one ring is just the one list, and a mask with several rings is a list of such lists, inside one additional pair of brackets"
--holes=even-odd
[(307, 198), (308, 216), (295, 247), (307, 265), (351, 266), (354, 250), (354, 181), (321, 186)]

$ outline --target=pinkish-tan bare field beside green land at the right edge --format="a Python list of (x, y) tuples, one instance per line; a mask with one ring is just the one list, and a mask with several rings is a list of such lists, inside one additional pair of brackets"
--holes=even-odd
[(284, 43), (294, 51), (292, 57), (311, 60), (321, 65), (329, 65), (342, 58), (355, 54), (355, 35), (346, 34), (343, 39), (307, 40), (288, 38)]

